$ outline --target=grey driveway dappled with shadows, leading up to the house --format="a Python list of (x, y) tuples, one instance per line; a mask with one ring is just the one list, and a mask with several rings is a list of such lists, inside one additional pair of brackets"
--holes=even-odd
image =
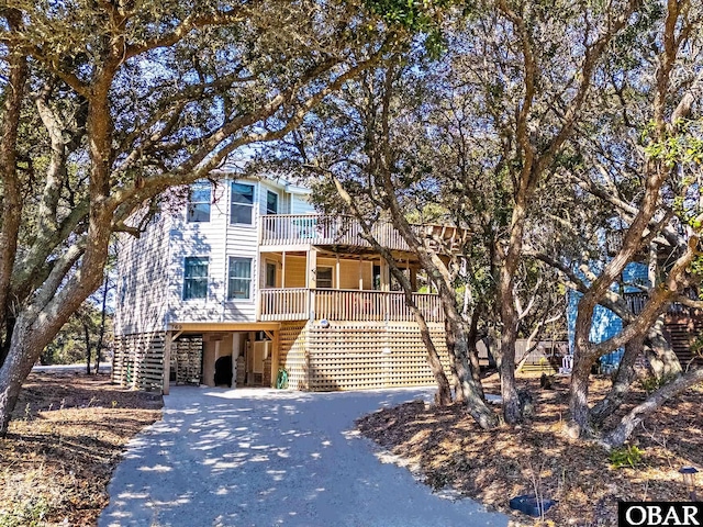
[(107, 526), (507, 526), (381, 463), (354, 419), (429, 390), (301, 393), (172, 388), (164, 421), (130, 444)]

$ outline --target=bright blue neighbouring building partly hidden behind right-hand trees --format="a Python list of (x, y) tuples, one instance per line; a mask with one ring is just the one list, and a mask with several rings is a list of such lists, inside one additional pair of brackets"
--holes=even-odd
[[(623, 271), (624, 283), (640, 283), (647, 284), (647, 266), (639, 262), (631, 262)], [(617, 288), (617, 285), (614, 285)], [(637, 293), (639, 290), (632, 285), (625, 287), (625, 294)], [(567, 307), (567, 330), (569, 334), (569, 351), (573, 354), (573, 340), (576, 333), (576, 316), (578, 312), (579, 300), (581, 300), (581, 293), (569, 293), (569, 305)], [(623, 321), (612, 311), (606, 310), (601, 305), (595, 306), (593, 313), (593, 323), (591, 325), (591, 333), (589, 338), (593, 343), (602, 343), (611, 337), (614, 337), (623, 329)], [(620, 365), (624, 350), (622, 348), (613, 351), (612, 354), (601, 357), (601, 367), (604, 372), (613, 371)]]

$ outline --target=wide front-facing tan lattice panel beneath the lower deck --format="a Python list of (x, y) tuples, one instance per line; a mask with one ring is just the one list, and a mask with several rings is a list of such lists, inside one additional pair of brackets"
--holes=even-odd
[[(432, 384), (427, 350), (414, 324), (308, 326), (309, 390), (364, 390)], [(448, 370), (440, 324), (432, 339)]]

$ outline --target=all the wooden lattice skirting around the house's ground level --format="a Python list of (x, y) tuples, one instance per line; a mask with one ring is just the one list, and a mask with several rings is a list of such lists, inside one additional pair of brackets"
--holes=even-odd
[[(429, 328), (448, 374), (444, 324), (431, 324)], [(116, 337), (115, 344), (113, 382), (138, 390), (160, 390), (165, 334), (124, 335)], [(200, 336), (174, 341), (171, 382), (201, 382), (201, 354)], [(282, 323), (278, 354), (292, 390), (369, 390), (435, 382), (420, 329), (412, 323), (332, 323), (327, 327), (317, 322)], [(269, 358), (265, 363), (265, 385), (271, 383), (270, 365)], [(241, 371), (243, 368), (237, 368), (237, 374)], [(277, 373), (272, 372), (272, 379)]]

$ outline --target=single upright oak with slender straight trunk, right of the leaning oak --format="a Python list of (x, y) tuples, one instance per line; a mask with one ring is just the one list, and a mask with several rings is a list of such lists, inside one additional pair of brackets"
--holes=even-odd
[(522, 421), (514, 378), (520, 324), (515, 291), (532, 204), (544, 181), (559, 169), (568, 141), (590, 110), (593, 81), (606, 52), (632, 23), (637, 5), (479, 2), (467, 7), (462, 14), (468, 15), (445, 33), (448, 53), (455, 56), (450, 75), (475, 99), (472, 135), (494, 145), (482, 159), (483, 169), (505, 181), (501, 198), (507, 217), (494, 249), (498, 358), (507, 423)]

